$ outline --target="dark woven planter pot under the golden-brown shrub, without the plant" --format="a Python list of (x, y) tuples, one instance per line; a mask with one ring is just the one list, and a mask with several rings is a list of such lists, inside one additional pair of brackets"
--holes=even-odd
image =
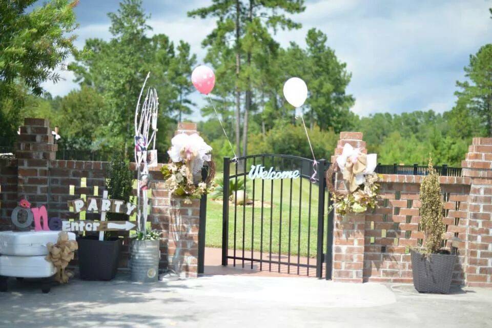
[(449, 293), (456, 255), (423, 254), (411, 250), (412, 273), (419, 293)]

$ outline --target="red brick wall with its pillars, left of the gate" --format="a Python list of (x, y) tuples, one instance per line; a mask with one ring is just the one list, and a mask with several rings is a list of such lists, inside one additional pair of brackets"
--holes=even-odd
[[(181, 132), (194, 133), (196, 125), (180, 123), (176, 133)], [(21, 198), (27, 198), (32, 206), (46, 206), (49, 217), (79, 218), (80, 214), (69, 212), (67, 200), (103, 195), (109, 163), (56, 160), (57, 145), (53, 143), (47, 119), (26, 118), (16, 146), (16, 159), (0, 160), (0, 230), (11, 229), (10, 215)], [(149, 216), (152, 228), (163, 233), (159, 268), (165, 271), (168, 262), (178, 263), (182, 276), (196, 276), (199, 201), (184, 204), (176, 199), (171, 202), (163, 186), (161, 167), (159, 164), (150, 169), (152, 207)], [(135, 169), (134, 163), (130, 169)], [(135, 190), (133, 194), (136, 195)], [(97, 213), (86, 213), (86, 219), (99, 217)], [(119, 267), (128, 268), (129, 233), (120, 235), (125, 239)], [(173, 238), (178, 238), (179, 242)], [(76, 264), (76, 260), (72, 264)]]

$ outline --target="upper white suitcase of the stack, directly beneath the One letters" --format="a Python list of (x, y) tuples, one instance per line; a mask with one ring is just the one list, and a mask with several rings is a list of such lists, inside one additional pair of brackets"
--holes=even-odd
[[(1, 231), (0, 254), (16, 256), (47, 255), (48, 242), (56, 243), (59, 231)], [(68, 238), (75, 240), (73, 232)]]

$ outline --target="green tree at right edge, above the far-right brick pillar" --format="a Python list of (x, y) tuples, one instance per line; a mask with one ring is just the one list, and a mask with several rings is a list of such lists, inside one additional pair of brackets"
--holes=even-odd
[(466, 81), (457, 81), (458, 105), (481, 119), (486, 135), (492, 137), (492, 44), (485, 45), (464, 68)]

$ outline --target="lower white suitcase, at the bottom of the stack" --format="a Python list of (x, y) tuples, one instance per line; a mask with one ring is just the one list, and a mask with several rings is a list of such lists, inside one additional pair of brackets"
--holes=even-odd
[(0, 256), (0, 276), (47, 278), (56, 273), (46, 256)]

